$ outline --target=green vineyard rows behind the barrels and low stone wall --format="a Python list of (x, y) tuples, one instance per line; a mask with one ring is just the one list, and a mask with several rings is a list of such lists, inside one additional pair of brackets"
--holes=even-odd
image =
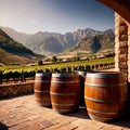
[(10, 80), (17, 82), (25, 82), (27, 79), (35, 79), (37, 72), (74, 72), (74, 70), (102, 70), (114, 68), (114, 61), (101, 62), (94, 64), (88, 64), (82, 62), (80, 64), (52, 64), (52, 65), (42, 65), (42, 66), (31, 66), (28, 69), (23, 68), (13, 68), (13, 69), (0, 69), (0, 83), (9, 82)]

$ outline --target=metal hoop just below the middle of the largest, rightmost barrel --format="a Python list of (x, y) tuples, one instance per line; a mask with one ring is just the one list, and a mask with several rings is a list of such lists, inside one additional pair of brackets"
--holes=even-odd
[(98, 100), (98, 99), (92, 99), (92, 98), (89, 98), (89, 96), (86, 96), (86, 95), (84, 95), (84, 99), (87, 99), (89, 101), (98, 102), (98, 103), (115, 103), (115, 102), (127, 101), (127, 98), (118, 99), (118, 100)]

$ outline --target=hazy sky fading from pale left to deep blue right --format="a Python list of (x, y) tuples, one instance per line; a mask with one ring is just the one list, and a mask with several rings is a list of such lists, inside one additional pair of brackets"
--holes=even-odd
[(29, 34), (105, 30), (114, 28), (114, 12), (96, 0), (0, 0), (0, 26)]

